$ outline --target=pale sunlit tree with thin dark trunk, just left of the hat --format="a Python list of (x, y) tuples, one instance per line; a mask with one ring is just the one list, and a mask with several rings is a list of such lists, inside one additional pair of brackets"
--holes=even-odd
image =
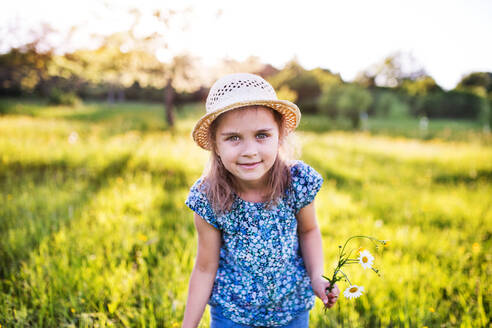
[[(176, 90), (200, 87), (198, 79), (192, 78), (193, 59), (186, 54), (172, 53), (172, 45), (168, 44), (171, 30), (186, 28), (179, 26), (179, 19), (186, 17), (191, 8), (144, 12), (139, 7), (127, 7), (117, 2), (105, 3), (105, 6), (111, 11), (122, 11), (122, 15), (130, 18), (129, 26), (111, 35), (94, 36), (101, 44), (97, 50), (99, 58), (93, 58), (89, 63), (95, 69), (90, 69), (88, 74), (84, 73), (85, 78), (91, 82), (108, 84), (109, 101), (113, 101), (116, 94), (122, 98), (122, 89), (135, 82), (162, 88), (165, 117), (169, 126), (173, 126)], [(155, 28), (141, 29), (144, 23), (152, 23)], [(164, 52), (168, 52), (167, 59), (162, 56)]]

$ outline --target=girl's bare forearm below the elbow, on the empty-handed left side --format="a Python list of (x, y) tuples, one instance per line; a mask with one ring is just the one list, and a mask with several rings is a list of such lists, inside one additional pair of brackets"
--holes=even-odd
[(190, 277), (182, 328), (198, 327), (212, 293), (217, 271), (202, 271), (195, 265)]

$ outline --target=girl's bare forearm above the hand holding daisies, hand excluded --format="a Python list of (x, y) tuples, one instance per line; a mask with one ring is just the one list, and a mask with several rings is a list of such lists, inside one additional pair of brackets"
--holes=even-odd
[(316, 227), (299, 234), (302, 258), (311, 280), (320, 278), (323, 274), (323, 243), (321, 233)]

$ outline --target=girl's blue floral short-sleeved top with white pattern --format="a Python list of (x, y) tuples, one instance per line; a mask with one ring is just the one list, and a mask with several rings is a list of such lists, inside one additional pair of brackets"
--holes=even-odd
[(267, 209), (236, 197), (230, 212), (216, 215), (199, 179), (186, 205), (221, 231), (219, 267), (209, 305), (250, 326), (286, 325), (314, 305), (301, 256), (296, 214), (323, 183), (312, 167), (297, 161), (291, 184), (278, 205)]

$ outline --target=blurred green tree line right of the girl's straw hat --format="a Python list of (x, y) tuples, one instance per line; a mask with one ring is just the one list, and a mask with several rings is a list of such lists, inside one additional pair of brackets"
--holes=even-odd
[(471, 119), (492, 125), (492, 73), (470, 73), (445, 91), (424, 70), (402, 71), (398, 60), (399, 54), (391, 55), (350, 83), (326, 69), (305, 70), (295, 61), (270, 80), (303, 112), (345, 117), (353, 127), (364, 116)]

